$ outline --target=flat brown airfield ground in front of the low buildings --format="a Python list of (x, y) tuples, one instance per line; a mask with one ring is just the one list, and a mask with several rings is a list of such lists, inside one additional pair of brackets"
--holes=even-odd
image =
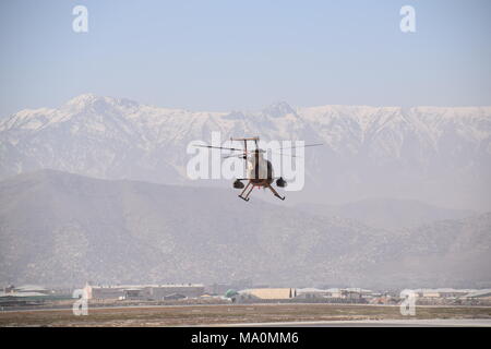
[(89, 306), (80, 316), (71, 309), (1, 311), (0, 326), (491, 326), (491, 306), (418, 305), (415, 316), (366, 304)]

